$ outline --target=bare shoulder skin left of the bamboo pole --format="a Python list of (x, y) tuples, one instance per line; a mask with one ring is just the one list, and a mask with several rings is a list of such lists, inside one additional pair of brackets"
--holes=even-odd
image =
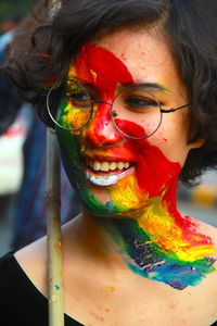
[(47, 244), (46, 238), (41, 238), (31, 244), (24, 247), (14, 254), (22, 269), (47, 297)]

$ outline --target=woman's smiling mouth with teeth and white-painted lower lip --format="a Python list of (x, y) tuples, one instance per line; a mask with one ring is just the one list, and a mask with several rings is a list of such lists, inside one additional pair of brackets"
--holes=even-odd
[(97, 186), (111, 186), (135, 171), (132, 162), (100, 162), (86, 158), (86, 177)]

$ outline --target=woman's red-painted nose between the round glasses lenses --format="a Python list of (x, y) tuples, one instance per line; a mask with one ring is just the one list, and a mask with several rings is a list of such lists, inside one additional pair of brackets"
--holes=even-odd
[(89, 123), (85, 138), (95, 147), (117, 143), (124, 136), (115, 128), (111, 118), (112, 104), (97, 102), (91, 122)]

